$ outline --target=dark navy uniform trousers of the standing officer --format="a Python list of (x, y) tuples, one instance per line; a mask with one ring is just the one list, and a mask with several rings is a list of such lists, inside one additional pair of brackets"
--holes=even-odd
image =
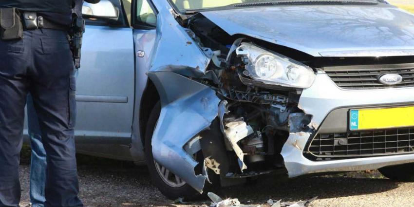
[(75, 158), (75, 77), (66, 33), (0, 40), (0, 207), (18, 207), (24, 106), (33, 97), (46, 150), (46, 207), (81, 207)]

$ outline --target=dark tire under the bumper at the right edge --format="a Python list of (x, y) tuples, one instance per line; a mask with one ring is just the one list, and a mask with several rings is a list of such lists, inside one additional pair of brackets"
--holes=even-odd
[(414, 182), (414, 163), (390, 166), (378, 170), (392, 181)]

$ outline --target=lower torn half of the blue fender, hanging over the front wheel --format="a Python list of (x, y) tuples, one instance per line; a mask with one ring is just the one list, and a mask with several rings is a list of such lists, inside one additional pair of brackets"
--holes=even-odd
[(152, 136), (154, 160), (203, 192), (208, 179), (206, 163), (203, 173), (195, 174), (198, 165), (185, 145), (208, 129), (217, 117), (220, 99), (214, 90), (197, 81), (172, 72), (148, 73), (160, 94), (161, 113)]

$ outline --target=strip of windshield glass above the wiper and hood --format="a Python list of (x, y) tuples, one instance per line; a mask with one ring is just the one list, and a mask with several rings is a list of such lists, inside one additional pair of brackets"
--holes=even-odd
[[(186, 13), (188, 11), (199, 11), (199, 10), (205, 10), (205, 9), (213, 9), (215, 7), (226, 7), (233, 4), (246, 4), (249, 5), (249, 3), (259, 3), (259, 2), (273, 2), (278, 3), (284, 2), (287, 3), (290, 0), (170, 0), (172, 4), (174, 4), (175, 8), (180, 13)], [(291, 0), (293, 3), (297, 3), (297, 0)], [(323, 0), (305, 0), (309, 2), (319, 2), (323, 3)], [(326, 0), (326, 1), (332, 1), (332, 0)], [(333, 0), (336, 1), (336, 0)], [(338, 0), (340, 2), (348, 1), (348, 0)], [(359, 3), (377, 3), (377, 0), (349, 0), (352, 2), (359, 2)], [(379, 2), (383, 0), (378, 0)], [(349, 3), (349, 2), (347, 2)], [(251, 5), (251, 4), (250, 4)]]

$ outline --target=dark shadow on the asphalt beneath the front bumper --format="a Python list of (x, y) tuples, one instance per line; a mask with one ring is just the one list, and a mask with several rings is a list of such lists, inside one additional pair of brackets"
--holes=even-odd
[(398, 188), (398, 184), (388, 179), (318, 176), (277, 181), (275, 177), (268, 176), (255, 185), (225, 188), (221, 195), (237, 197), (245, 202), (268, 199), (299, 201), (315, 196), (324, 199), (372, 194), (394, 188)]

